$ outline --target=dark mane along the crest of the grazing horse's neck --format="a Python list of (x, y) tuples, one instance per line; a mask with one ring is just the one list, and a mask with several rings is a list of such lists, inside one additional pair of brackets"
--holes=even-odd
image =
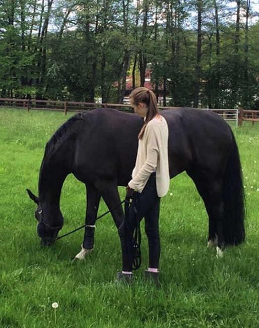
[(83, 114), (79, 113), (74, 116), (72, 116), (68, 121), (66, 121), (64, 124), (62, 124), (57, 131), (53, 134), (53, 136), (50, 138), (50, 140), (47, 142), (45, 147), (45, 155), (44, 157), (48, 157), (52, 151), (55, 149), (55, 146), (58, 143), (61, 143), (64, 139), (66, 139), (72, 131), (75, 131), (73, 129), (73, 126), (78, 120), (83, 119)]

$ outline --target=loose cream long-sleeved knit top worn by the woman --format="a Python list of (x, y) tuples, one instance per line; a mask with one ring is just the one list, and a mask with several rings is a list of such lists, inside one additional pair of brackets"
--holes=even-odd
[(159, 197), (164, 196), (169, 189), (168, 164), (168, 126), (165, 118), (162, 121), (151, 120), (139, 140), (139, 147), (130, 188), (142, 192), (150, 175), (156, 172), (156, 186)]

